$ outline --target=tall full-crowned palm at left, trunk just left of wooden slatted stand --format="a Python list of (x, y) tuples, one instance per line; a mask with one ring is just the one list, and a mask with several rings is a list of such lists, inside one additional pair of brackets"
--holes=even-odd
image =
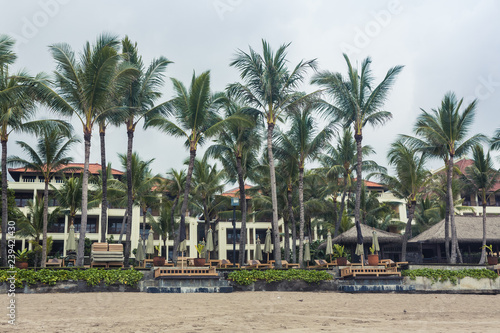
[[(55, 81), (57, 91), (44, 86), (42, 98), (54, 111), (65, 116), (76, 116), (83, 129), (84, 167), (82, 184), (82, 224), (80, 239), (85, 239), (87, 229), (87, 204), (89, 192), (89, 158), (92, 130), (103, 119), (117, 112), (110, 98), (133, 80), (137, 70), (131, 65), (119, 65), (119, 40), (116, 36), (102, 34), (94, 45), (87, 42), (79, 58), (68, 44), (50, 46), (56, 61)], [(78, 59), (78, 60), (77, 60)], [(77, 266), (83, 265), (84, 242), (78, 244)]]

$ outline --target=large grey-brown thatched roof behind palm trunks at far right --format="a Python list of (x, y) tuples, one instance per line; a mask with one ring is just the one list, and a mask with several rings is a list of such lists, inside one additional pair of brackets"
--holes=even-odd
[[(481, 216), (455, 216), (459, 243), (481, 243), (483, 239), (483, 218)], [(444, 243), (444, 220), (433, 225), (410, 243)], [(450, 232), (451, 238), (451, 232)], [(500, 243), (500, 217), (486, 218), (486, 243)]]

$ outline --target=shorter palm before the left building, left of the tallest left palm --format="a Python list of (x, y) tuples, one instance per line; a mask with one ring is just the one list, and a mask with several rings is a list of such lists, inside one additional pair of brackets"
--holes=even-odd
[(68, 169), (67, 164), (73, 161), (68, 157), (71, 146), (79, 140), (75, 137), (67, 138), (65, 133), (58, 129), (44, 129), (39, 135), (37, 148), (33, 149), (24, 141), (17, 141), (22, 150), (29, 156), (23, 159), (18, 156), (9, 158), (9, 164), (21, 165), (43, 176), (43, 235), (42, 235), (42, 267), (47, 261), (47, 226), (49, 214), (49, 183), (56, 173)]

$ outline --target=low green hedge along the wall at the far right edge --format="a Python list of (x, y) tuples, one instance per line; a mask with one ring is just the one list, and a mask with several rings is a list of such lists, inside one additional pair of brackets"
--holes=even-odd
[(426, 277), (432, 280), (432, 282), (446, 282), (450, 281), (453, 284), (457, 284), (458, 279), (463, 279), (464, 277), (471, 277), (475, 279), (493, 279), (498, 277), (498, 274), (489, 269), (459, 269), (459, 270), (448, 270), (448, 269), (432, 269), (432, 268), (421, 268), (404, 270), (401, 273), (403, 276), (408, 276), (410, 279), (415, 280), (417, 276)]

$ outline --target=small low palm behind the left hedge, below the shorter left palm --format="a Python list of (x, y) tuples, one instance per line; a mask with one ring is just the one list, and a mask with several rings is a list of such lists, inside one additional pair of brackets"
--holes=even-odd
[[(61, 208), (56, 207), (47, 216), (47, 227), (50, 227), (53, 223), (57, 221), (61, 215)], [(35, 246), (40, 246), (40, 234), (43, 234), (44, 230), (44, 203), (42, 198), (36, 198), (35, 202), (32, 200), (28, 201), (28, 214), (18, 220), (16, 235), (22, 238), (32, 238), (30, 241)], [(48, 242), (47, 242), (48, 243)], [(43, 247), (42, 247), (43, 251)], [(45, 252), (47, 253), (47, 251)], [(35, 267), (38, 262), (38, 251), (35, 252)], [(42, 259), (43, 265), (43, 259)]]

